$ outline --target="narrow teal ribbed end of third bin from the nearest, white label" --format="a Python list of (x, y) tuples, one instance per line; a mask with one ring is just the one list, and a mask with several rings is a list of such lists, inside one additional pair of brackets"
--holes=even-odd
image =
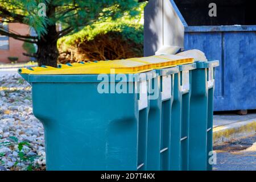
[(170, 146), (170, 169), (174, 171), (188, 168), (189, 98), (193, 69), (196, 69), (195, 63), (179, 65), (179, 73), (174, 76)]

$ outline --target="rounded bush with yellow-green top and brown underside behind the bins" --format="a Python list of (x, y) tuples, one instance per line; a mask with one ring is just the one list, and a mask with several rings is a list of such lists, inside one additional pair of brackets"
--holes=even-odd
[(114, 60), (143, 55), (143, 15), (123, 15), (118, 19), (99, 20), (79, 32), (58, 40), (59, 63)]

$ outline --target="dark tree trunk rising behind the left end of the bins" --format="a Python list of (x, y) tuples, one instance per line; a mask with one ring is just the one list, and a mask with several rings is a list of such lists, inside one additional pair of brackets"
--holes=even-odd
[[(55, 13), (55, 7), (48, 6), (47, 16), (51, 16)], [(47, 65), (51, 67), (57, 67), (57, 58), (59, 51), (57, 49), (57, 31), (56, 24), (50, 24), (47, 26), (47, 33), (44, 34), (40, 40), (38, 40), (38, 64), (39, 66)]]

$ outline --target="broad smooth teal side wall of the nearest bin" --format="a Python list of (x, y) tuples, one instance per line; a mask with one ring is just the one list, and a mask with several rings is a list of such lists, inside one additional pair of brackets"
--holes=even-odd
[[(147, 93), (135, 91), (147, 87), (147, 78), (123, 82), (133, 92), (117, 94), (99, 92), (97, 77), (30, 75), (34, 115), (45, 130), (47, 170), (137, 170), (138, 125), (147, 122), (140, 111), (148, 102)], [(101, 84), (111, 89), (120, 82)]]

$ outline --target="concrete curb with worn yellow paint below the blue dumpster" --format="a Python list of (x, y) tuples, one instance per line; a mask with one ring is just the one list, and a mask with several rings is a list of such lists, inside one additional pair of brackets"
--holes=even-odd
[(216, 126), (213, 127), (213, 144), (228, 142), (234, 138), (248, 137), (255, 134), (255, 131), (255, 118)]

